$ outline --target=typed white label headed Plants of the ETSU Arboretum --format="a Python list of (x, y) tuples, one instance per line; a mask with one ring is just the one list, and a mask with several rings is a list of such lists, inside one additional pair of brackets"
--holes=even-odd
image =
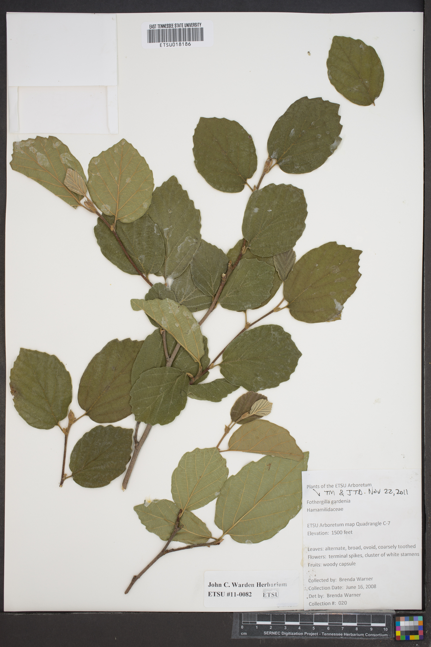
[(421, 608), (419, 470), (302, 472), (304, 609)]

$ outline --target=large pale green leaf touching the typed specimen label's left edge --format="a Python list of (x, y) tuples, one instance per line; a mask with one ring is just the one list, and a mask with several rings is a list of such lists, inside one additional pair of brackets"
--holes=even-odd
[(273, 537), (301, 509), (301, 473), (306, 472), (307, 462), (308, 452), (299, 463), (266, 456), (230, 476), (216, 503), (218, 528), (239, 543)]

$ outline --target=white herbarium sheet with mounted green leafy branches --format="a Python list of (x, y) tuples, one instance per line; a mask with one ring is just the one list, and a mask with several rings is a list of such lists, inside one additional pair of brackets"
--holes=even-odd
[(302, 609), (301, 472), (420, 470), (422, 22), (118, 14), (118, 133), (8, 134), (6, 611)]

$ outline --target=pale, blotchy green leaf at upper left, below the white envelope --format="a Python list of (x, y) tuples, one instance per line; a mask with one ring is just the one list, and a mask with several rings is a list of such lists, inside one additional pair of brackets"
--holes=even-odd
[(81, 195), (70, 191), (64, 181), (68, 169), (77, 171), (84, 179), (85, 173), (76, 157), (57, 137), (36, 137), (14, 142), (10, 166), (45, 186), (74, 209), (79, 206)]

